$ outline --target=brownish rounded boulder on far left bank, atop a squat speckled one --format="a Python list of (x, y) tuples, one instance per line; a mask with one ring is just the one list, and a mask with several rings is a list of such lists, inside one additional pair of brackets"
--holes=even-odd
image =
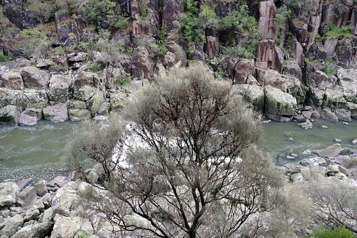
[(50, 74), (36, 67), (23, 67), (22, 78), (27, 88), (47, 89), (50, 82)]

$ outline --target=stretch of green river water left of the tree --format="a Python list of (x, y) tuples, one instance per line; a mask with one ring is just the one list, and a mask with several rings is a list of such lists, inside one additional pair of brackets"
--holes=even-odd
[(4, 179), (53, 178), (75, 122), (53, 124), (38, 121), (36, 126), (0, 126), (0, 182)]

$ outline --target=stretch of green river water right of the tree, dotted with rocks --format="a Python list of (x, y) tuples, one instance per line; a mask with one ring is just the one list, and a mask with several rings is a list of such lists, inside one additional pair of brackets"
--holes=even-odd
[[(297, 126), (297, 123), (281, 123), (272, 121), (264, 124), (264, 135), (259, 145), (265, 152), (269, 152), (276, 164), (287, 162), (299, 162), (304, 159), (317, 159), (311, 150), (323, 149), (335, 144), (335, 138), (342, 141), (342, 153), (348, 150), (357, 150), (357, 145), (353, 145), (351, 140), (357, 138), (357, 120), (349, 122), (348, 125), (342, 122), (332, 123), (323, 119), (315, 119), (312, 129), (304, 130)], [(321, 126), (328, 126), (322, 128)], [(294, 141), (289, 141), (292, 138)], [(286, 159), (289, 153), (297, 154), (297, 159)]]

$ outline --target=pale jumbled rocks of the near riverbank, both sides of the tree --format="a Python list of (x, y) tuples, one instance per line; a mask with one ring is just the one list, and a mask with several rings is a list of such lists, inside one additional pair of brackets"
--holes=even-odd
[[(323, 178), (331, 183), (357, 187), (357, 152), (350, 151), (349, 155), (341, 156), (341, 151), (341, 146), (335, 144), (314, 151), (321, 157), (318, 162), (305, 161), (305, 166), (285, 164), (277, 170), (285, 174), (286, 183), (309, 186), (316, 178)], [(102, 170), (99, 164), (85, 173), (91, 183), (100, 186)], [(100, 194), (97, 188), (81, 179), (72, 181), (65, 176), (50, 181), (39, 180), (34, 186), (27, 186), (29, 181), (7, 180), (0, 183), (1, 238), (123, 236), (121, 232), (112, 234), (115, 227), (106, 220), (105, 214), (96, 213), (86, 206), (86, 194)], [(144, 222), (135, 215), (128, 216), (137, 223)], [(304, 227), (305, 234), (310, 229)]]

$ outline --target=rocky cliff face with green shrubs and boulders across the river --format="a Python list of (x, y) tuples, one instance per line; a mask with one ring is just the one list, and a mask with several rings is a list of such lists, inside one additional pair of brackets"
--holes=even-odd
[[(357, 6), (351, 0), (0, 4), (1, 60), (19, 58), (0, 65), (0, 107), (15, 105), (32, 117), (33, 110), (61, 103), (69, 119), (120, 110), (128, 92), (147, 79), (194, 61), (233, 84), (261, 86), (265, 94), (271, 91), (265, 86), (278, 88), (269, 96), (274, 104), (281, 93), (292, 95), (296, 111), (289, 114), (272, 113), (262, 96), (260, 111), (271, 119), (290, 120), (302, 105), (357, 115)], [(238, 92), (256, 109), (246, 90)]]

